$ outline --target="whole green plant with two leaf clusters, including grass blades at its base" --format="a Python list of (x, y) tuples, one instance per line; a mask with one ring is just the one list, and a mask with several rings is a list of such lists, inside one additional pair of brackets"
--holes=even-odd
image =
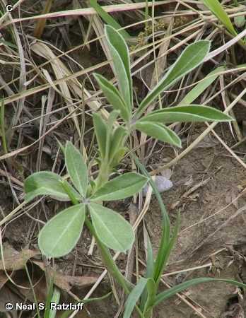
[[(142, 174), (127, 172), (117, 177), (112, 178), (111, 176), (127, 151), (128, 137), (136, 129), (160, 141), (180, 147), (179, 136), (165, 124), (228, 122), (232, 118), (204, 105), (179, 105), (144, 114), (147, 107), (163, 90), (170, 88), (204, 61), (209, 53), (209, 41), (201, 40), (188, 45), (162, 80), (134, 111), (128, 47), (122, 35), (114, 28), (107, 25), (105, 34), (115, 66), (119, 90), (100, 74), (94, 74), (102, 92), (113, 108), (107, 121), (99, 113), (93, 114), (93, 126), (98, 142), (98, 175), (95, 179), (89, 177), (83, 156), (68, 141), (65, 146), (61, 146), (61, 149), (64, 152), (66, 169), (73, 185), (52, 172), (36, 172), (25, 179), (25, 201), (30, 201), (38, 195), (49, 195), (61, 201), (71, 201), (73, 204), (71, 207), (54, 216), (40, 231), (38, 244), (42, 254), (47, 257), (61, 257), (69, 253), (78, 242), (83, 224), (86, 223), (91, 235), (95, 237), (107, 270), (122, 286), (125, 293), (129, 294), (125, 304), (124, 318), (131, 317), (134, 307), (140, 317), (148, 318), (152, 315), (153, 307), (160, 301), (190, 285), (211, 281), (211, 278), (198, 278), (177, 285), (163, 293), (157, 293), (160, 277), (175, 244), (178, 222), (171, 234), (168, 213), (156, 185), (134, 154), (132, 154), (133, 158)], [(120, 125), (117, 123), (118, 117), (122, 119)], [(134, 242), (134, 231), (127, 220), (124, 220), (117, 212), (103, 206), (102, 202), (133, 196), (140, 192), (147, 182), (150, 182), (153, 187), (160, 205), (163, 215), (163, 234), (156, 260), (153, 259), (151, 241), (148, 240), (146, 276), (134, 286), (122, 275), (110, 254), (110, 249), (125, 252), (131, 248)], [(227, 282), (246, 287), (242, 283)], [(138, 300), (140, 300), (139, 305), (137, 305)]]

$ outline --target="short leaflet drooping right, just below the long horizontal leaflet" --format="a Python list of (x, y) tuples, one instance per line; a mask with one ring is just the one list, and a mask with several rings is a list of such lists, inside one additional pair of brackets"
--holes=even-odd
[(170, 145), (181, 147), (180, 137), (163, 124), (150, 121), (138, 121), (136, 122), (135, 127), (148, 136), (154, 137), (166, 143), (170, 143)]

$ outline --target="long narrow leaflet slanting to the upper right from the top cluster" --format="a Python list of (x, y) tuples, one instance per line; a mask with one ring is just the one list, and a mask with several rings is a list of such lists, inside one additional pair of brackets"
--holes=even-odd
[(211, 43), (207, 40), (201, 40), (189, 45), (180, 57), (175, 61), (169, 71), (165, 76), (160, 80), (153, 90), (142, 100), (139, 109), (136, 114), (139, 118), (143, 114), (146, 107), (155, 100), (163, 90), (168, 89), (174, 83), (176, 83), (180, 78), (185, 76), (187, 73), (199, 66), (203, 61), (206, 55), (209, 53)]

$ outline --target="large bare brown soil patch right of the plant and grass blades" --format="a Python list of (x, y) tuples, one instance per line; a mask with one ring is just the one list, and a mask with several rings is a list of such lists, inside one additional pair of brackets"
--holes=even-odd
[[(230, 132), (224, 134), (230, 144)], [(245, 146), (241, 146), (240, 151), (245, 153), (245, 149)], [(168, 153), (168, 150), (165, 151), (165, 155)], [(182, 271), (208, 263), (212, 265), (167, 276), (165, 281), (175, 285), (190, 278), (211, 276), (245, 283), (246, 249), (239, 249), (246, 243), (246, 202), (245, 194), (242, 193), (245, 175), (242, 166), (220, 145), (211, 148), (198, 146), (174, 167), (172, 182), (175, 186), (163, 194), (163, 201), (172, 224), (175, 224), (177, 211), (180, 210), (181, 225), (166, 272)], [(237, 196), (240, 198), (236, 199)], [(161, 218), (154, 198), (146, 216), (146, 224), (153, 248), (157, 251)], [(239, 294), (238, 288), (225, 283), (204, 283), (185, 292), (187, 300), (197, 310), (200, 310), (200, 306), (204, 309), (205, 317), (234, 317), (223, 316), (223, 313), (226, 313), (232, 298), (240, 299)], [(158, 306), (155, 317), (197, 317), (194, 314), (194, 310), (185, 302), (173, 297)]]

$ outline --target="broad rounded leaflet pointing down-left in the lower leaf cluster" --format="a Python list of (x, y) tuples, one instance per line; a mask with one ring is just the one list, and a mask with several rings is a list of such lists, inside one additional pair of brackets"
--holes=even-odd
[(47, 257), (62, 257), (71, 252), (81, 236), (85, 217), (85, 204), (77, 204), (49, 220), (38, 236), (42, 254)]

